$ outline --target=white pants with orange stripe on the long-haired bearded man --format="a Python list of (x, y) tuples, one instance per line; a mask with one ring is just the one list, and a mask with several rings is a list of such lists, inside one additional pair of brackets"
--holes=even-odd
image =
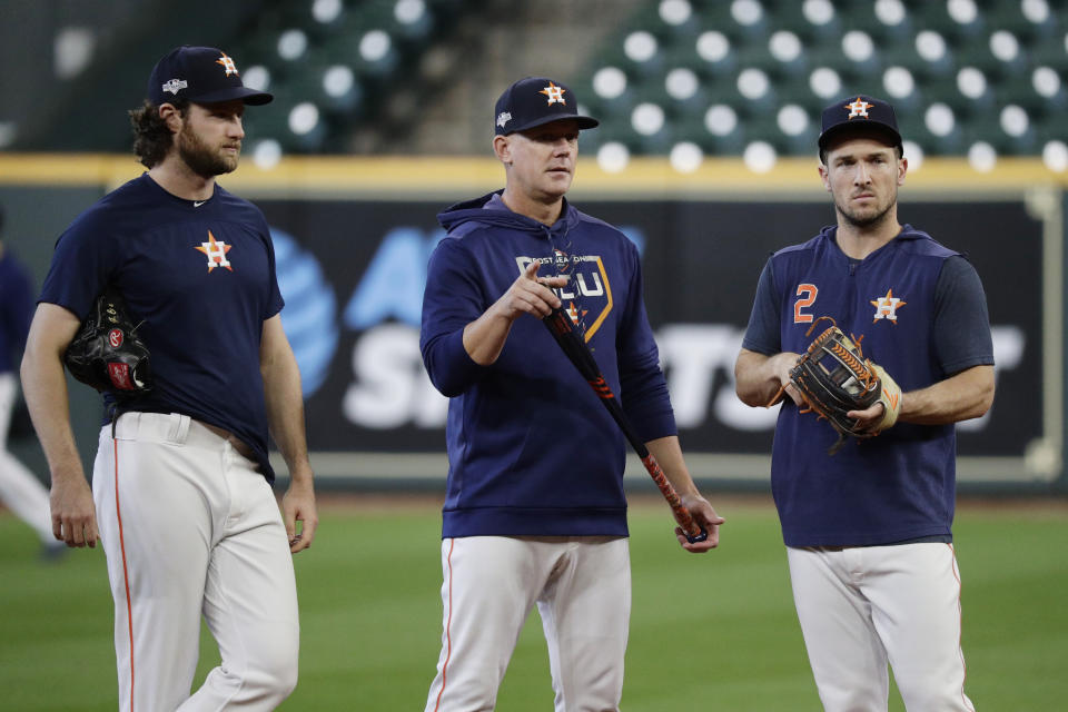
[[(100, 431), (92, 488), (115, 597), (121, 712), (274, 710), (297, 682), (293, 558), (274, 493), (185, 415)], [(190, 696), (207, 621), (221, 663)]]

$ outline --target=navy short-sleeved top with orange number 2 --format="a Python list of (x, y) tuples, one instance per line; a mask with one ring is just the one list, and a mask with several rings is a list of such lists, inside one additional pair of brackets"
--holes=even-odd
[[(982, 285), (975, 268), (906, 225), (863, 260), (839, 249), (835, 229), (768, 261), (742, 346), (801, 353), (817, 317), (863, 338), (864, 355), (906, 392), (993, 364)], [(772, 451), (772, 494), (788, 546), (951, 541), (956, 432), (899, 422), (850, 441), (783, 400)]]

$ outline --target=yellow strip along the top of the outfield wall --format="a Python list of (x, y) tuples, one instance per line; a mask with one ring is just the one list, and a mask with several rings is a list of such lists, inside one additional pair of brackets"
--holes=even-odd
[[(593, 157), (578, 165), (574, 190), (584, 195), (678, 196), (821, 191), (817, 158), (784, 158), (767, 172), (754, 172), (740, 158), (711, 158), (695, 171), (674, 170), (664, 158), (634, 158), (620, 172), (599, 168)], [(144, 168), (121, 154), (0, 154), (0, 185), (100, 186), (113, 188)], [(261, 169), (246, 156), (240, 168), (221, 179), (237, 192), (392, 196), (411, 199), (433, 194), (455, 198), (503, 185), (504, 174), (492, 157), (295, 156)], [(951, 192), (1020, 191), (1036, 187), (1068, 188), (1068, 171), (1054, 172), (1037, 158), (1001, 158), (989, 172), (979, 172), (959, 158), (928, 158), (910, 169), (906, 190)], [(911, 197), (917, 197), (913, 194)]]

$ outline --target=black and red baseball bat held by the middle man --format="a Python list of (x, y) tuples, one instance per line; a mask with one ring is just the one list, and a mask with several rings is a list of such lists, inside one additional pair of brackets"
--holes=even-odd
[(601, 373), (596, 359), (590, 352), (590, 347), (586, 346), (585, 339), (575, 332), (567, 313), (564, 312), (563, 307), (556, 307), (553, 309), (553, 313), (543, 318), (542, 322), (548, 327), (550, 334), (552, 334), (556, 343), (560, 344), (560, 348), (564, 352), (564, 355), (567, 356), (567, 359), (575, 365), (575, 368), (578, 369), (582, 377), (590, 384), (593, 392), (597, 394), (602, 405), (607, 408), (612, 419), (615, 421), (615, 424), (620, 426), (623, 435), (626, 436), (626, 439), (631, 443), (631, 447), (633, 447), (637, 456), (641, 457), (642, 464), (645, 465), (645, 469), (649, 472), (649, 476), (653, 478), (661, 494), (668, 500), (668, 504), (675, 515), (675, 522), (678, 522), (682, 528), (686, 541), (694, 544), (706, 540), (709, 533), (701, 528), (701, 526), (693, 521), (690, 512), (682, 506), (682, 500), (679, 497), (679, 493), (675, 492), (675, 488), (668, 482), (668, 476), (664, 475), (660, 463), (657, 463), (653, 454), (649, 452), (642, 438), (637, 436), (634, 426), (631, 425), (630, 418), (627, 418), (623, 412), (623, 406), (620, 405), (615, 394), (612, 393), (612, 388), (604, 379), (604, 375)]

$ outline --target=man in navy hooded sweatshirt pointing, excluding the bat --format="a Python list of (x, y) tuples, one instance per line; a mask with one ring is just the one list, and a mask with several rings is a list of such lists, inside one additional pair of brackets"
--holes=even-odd
[(631, 606), (625, 445), (540, 323), (567, 306), (613, 390), (708, 541), (723, 522), (694, 486), (645, 316), (637, 249), (564, 198), (577, 158), (571, 90), (508, 87), (494, 111), (505, 188), (438, 216), (421, 347), (449, 397), (442, 653), (428, 712), (491, 710), (537, 605), (558, 712), (617, 710)]

